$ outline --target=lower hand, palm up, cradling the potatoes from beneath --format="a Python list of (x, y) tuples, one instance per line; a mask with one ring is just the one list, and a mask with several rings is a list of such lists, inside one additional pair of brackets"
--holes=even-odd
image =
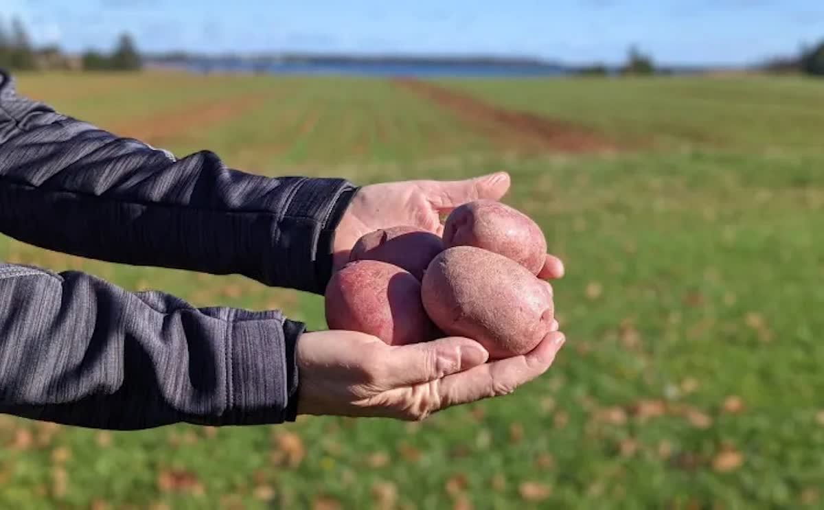
[(465, 338), (393, 347), (354, 331), (305, 333), (297, 341), (297, 412), (421, 420), (512, 393), (546, 372), (563, 344), (554, 331), (531, 353), (486, 363), (489, 353)]

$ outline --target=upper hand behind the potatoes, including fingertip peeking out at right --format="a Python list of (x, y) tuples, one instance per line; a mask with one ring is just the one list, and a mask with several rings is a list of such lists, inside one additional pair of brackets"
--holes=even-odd
[[(472, 200), (499, 200), (507, 193), (509, 175), (498, 172), (467, 180), (406, 180), (364, 186), (352, 199), (335, 231), (335, 269), (349, 260), (361, 236), (379, 228), (411, 225), (441, 236), (441, 215)], [(560, 278), (564, 264), (547, 255), (541, 278)]]

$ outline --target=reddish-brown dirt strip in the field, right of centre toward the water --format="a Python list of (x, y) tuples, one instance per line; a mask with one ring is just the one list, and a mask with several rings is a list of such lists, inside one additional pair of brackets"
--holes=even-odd
[(405, 78), (394, 83), (451, 111), (505, 150), (583, 153), (616, 149), (615, 143), (580, 126), (528, 112), (507, 110), (429, 82)]

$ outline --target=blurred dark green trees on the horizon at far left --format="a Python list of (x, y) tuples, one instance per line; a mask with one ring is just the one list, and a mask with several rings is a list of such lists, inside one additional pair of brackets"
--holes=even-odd
[(35, 48), (26, 27), (19, 18), (13, 18), (8, 26), (0, 18), (0, 68), (14, 71), (44, 69), (136, 71), (143, 68), (143, 58), (128, 34), (120, 35), (111, 53), (89, 50), (82, 54), (81, 58), (64, 54), (56, 45)]

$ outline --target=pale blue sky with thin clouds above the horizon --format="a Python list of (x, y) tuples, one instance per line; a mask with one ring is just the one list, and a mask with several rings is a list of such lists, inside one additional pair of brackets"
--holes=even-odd
[(39, 43), (145, 50), (519, 54), (751, 63), (824, 38), (824, 0), (0, 0)]

